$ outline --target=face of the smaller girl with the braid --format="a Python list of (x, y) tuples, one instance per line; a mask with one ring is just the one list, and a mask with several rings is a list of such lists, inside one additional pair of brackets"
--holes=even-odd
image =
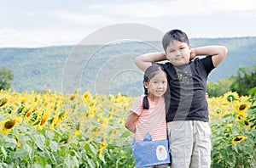
[(148, 98), (160, 98), (167, 89), (166, 72), (159, 70), (150, 81), (144, 82), (144, 86), (148, 88)]

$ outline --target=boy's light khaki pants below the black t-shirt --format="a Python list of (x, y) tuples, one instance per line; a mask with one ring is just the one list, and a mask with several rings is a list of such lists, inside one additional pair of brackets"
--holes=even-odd
[(211, 165), (211, 128), (208, 122), (177, 120), (167, 123), (172, 168), (209, 168)]

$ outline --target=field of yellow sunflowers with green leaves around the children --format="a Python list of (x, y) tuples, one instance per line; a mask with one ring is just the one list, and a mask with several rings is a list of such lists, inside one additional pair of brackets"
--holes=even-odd
[[(256, 167), (256, 88), (208, 98), (212, 167)], [(0, 92), (0, 167), (134, 167), (125, 118), (134, 98)]]

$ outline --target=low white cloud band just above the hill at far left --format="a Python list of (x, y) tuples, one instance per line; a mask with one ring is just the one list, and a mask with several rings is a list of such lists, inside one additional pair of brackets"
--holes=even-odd
[(38, 30), (21, 31), (0, 29), (0, 47), (38, 48), (54, 45), (78, 44), (84, 38), (82, 31)]

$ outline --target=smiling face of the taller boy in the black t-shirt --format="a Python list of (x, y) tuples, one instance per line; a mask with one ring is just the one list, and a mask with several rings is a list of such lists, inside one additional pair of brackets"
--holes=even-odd
[(190, 59), (191, 46), (186, 42), (174, 40), (166, 48), (166, 58), (174, 65), (188, 64)]

